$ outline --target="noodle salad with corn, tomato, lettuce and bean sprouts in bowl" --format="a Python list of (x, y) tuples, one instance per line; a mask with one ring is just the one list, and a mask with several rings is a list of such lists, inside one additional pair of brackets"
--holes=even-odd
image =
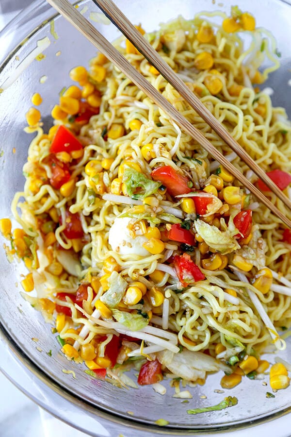
[[(291, 125), (258, 86), (279, 67), (273, 36), (237, 7), (137, 29), (290, 197)], [(291, 218), (128, 40), (114, 46)], [(94, 377), (136, 386), (134, 365), (140, 385), (204, 384), (219, 370), (224, 388), (256, 379), (269, 368), (260, 354), (286, 347), (291, 231), (104, 55), (69, 75), (79, 86), (62, 91), (47, 134), (38, 109), (26, 114), (36, 136), (12, 204), (21, 227), (0, 220), (7, 254), (29, 269), (23, 296)], [(271, 367), (273, 390), (288, 370)]]

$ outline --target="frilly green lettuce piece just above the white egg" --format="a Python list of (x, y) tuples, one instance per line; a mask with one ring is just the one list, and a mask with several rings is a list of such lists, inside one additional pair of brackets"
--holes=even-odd
[[(126, 190), (131, 199), (145, 199), (145, 197), (158, 191), (158, 188), (161, 185), (160, 182), (152, 181), (143, 173), (128, 166), (124, 167), (122, 182), (125, 184)], [(137, 190), (138, 188), (139, 190)]]

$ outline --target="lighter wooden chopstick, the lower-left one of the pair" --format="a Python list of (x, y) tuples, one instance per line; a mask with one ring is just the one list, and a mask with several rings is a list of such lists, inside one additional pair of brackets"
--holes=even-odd
[[(248, 188), (258, 199), (263, 202), (273, 213), (280, 218), (288, 227), (291, 228), (291, 221), (270, 202), (259, 189), (252, 185), (242, 173), (235, 168), (227, 159), (215, 149), (215, 147), (198, 131), (186, 118), (184, 118), (174, 106), (167, 101), (162, 94), (157, 91), (145, 77), (137, 71), (125, 57), (107, 39), (100, 34), (97, 29), (83, 17), (77, 9), (67, 0), (47, 0), (63, 17), (65, 17), (73, 26), (76, 27), (98, 50), (116, 65), (134, 84), (136, 84), (144, 93), (160, 106), (169, 117), (189, 135), (191, 135), (204, 149), (206, 149), (217, 161), (219, 161), (227, 170), (229, 170), (246, 188)], [(188, 89), (188, 88), (187, 88)]]

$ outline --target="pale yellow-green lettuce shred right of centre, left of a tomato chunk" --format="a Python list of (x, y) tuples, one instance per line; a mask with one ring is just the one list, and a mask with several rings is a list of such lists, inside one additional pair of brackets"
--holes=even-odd
[[(239, 234), (237, 229), (227, 228), (223, 219), (221, 219), (224, 231), (220, 231), (216, 226), (211, 226), (208, 223), (200, 220), (195, 221), (194, 226), (196, 232), (204, 239), (210, 249), (220, 252), (223, 255), (240, 249), (240, 245), (233, 235)], [(236, 234), (234, 234), (234, 232)]]

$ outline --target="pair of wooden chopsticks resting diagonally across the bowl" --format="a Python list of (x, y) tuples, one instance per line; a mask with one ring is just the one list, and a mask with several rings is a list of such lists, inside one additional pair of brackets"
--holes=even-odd
[[(127, 59), (116, 50), (97, 29), (84, 18), (68, 0), (47, 0), (63, 17), (75, 26), (98, 50), (100, 50), (114, 65), (116, 65), (134, 84), (154, 101), (176, 123), (190, 134), (205, 150), (220, 162), (233, 176), (235, 176), (246, 188), (248, 188), (262, 203), (264, 203), (283, 223), (291, 228), (291, 220), (279, 211), (279, 209), (267, 199), (259, 189), (251, 184), (243, 174), (198, 131), (186, 118), (184, 118), (174, 106), (156, 90), (146, 78), (137, 71)], [(291, 209), (291, 201), (274, 184), (266, 173), (252, 160), (242, 147), (232, 138), (226, 129), (208, 111), (201, 101), (181, 81), (178, 75), (158, 55), (156, 50), (135, 29), (127, 17), (118, 9), (111, 0), (93, 0), (113, 24), (129, 39), (129, 41), (145, 56), (145, 58), (162, 74), (162, 76), (176, 88), (179, 94), (192, 106), (192, 108), (206, 121), (206, 123), (235, 151), (238, 156), (257, 174), (257, 176)]]

